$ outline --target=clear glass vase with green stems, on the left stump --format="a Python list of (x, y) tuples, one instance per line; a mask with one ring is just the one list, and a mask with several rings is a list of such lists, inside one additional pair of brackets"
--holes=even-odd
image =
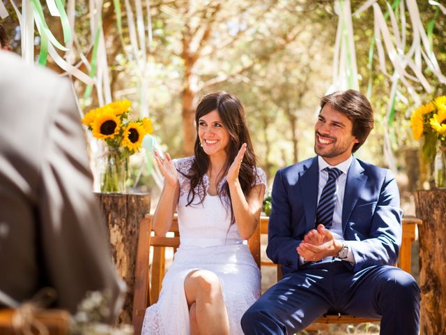
[(102, 193), (125, 193), (128, 157), (118, 149), (106, 148), (100, 159), (100, 191)]

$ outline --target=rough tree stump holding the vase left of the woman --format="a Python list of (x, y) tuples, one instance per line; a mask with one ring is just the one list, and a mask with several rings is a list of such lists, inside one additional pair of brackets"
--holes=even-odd
[(127, 285), (118, 324), (132, 324), (134, 267), (137, 258), (139, 221), (151, 208), (149, 194), (96, 193), (109, 230), (112, 258)]

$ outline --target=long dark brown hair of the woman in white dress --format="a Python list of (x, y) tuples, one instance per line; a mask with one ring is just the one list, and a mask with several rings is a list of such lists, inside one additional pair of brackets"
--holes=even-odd
[[(215, 92), (204, 96), (197, 106), (197, 111), (195, 112), (195, 122), (197, 125), (197, 140), (195, 141), (194, 153), (195, 159), (192, 163), (192, 167), (189, 170), (189, 174), (185, 174), (185, 177), (190, 179), (190, 191), (187, 195), (187, 205), (189, 206), (194, 201), (197, 192), (195, 188), (201, 188), (205, 190), (203, 184), (203, 175), (206, 174), (209, 168), (209, 156), (203, 151), (200, 146), (200, 139), (198, 136), (199, 119), (204, 115), (217, 110), (224, 128), (229, 131), (229, 144), (227, 149), (227, 159), (223, 169), (224, 174), (231, 166), (236, 158), (240, 147), (243, 143), (247, 144), (245, 151), (245, 156), (243, 156), (243, 162), (240, 166), (240, 172), (238, 174), (238, 180), (240, 181), (240, 186), (242, 187), (243, 194), (247, 196), (249, 191), (251, 191), (254, 186), (254, 181), (256, 179), (256, 156), (252, 148), (251, 137), (249, 137), (249, 131), (246, 126), (245, 120), (245, 110), (243, 110), (243, 105), (240, 103), (236, 96), (228, 94), (224, 91)], [(229, 193), (228, 182), (225, 181), (222, 191), (218, 190), (218, 195), (220, 200), (224, 195), (229, 198), (229, 203), (227, 206), (231, 209), (231, 223), (234, 223), (234, 214), (232, 209), (231, 194)], [(206, 197), (206, 192), (199, 194), (200, 201), (196, 204), (201, 204)]]

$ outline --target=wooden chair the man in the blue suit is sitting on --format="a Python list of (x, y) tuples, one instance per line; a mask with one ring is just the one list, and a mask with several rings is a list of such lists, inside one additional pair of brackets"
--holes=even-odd
[[(260, 233), (268, 234), (268, 217), (261, 217)], [(403, 218), (403, 239), (401, 241), (401, 248), (399, 251), (398, 267), (404, 271), (410, 273), (412, 254), (411, 245), (412, 242), (417, 238), (417, 225), (421, 225), (422, 221), (414, 216), (405, 216)], [(282, 278), (282, 270), (280, 265), (276, 265), (273, 262), (261, 262), (263, 266), (273, 266), (277, 267), (277, 281)], [(380, 322), (379, 319), (370, 318), (360, 318), (353, 315), (342, 315), (342, 314), (326, 314), (321, 316), (314, 321), (314, 323), (334, 323), (334, 324), (351, 324), (351, 323), (362, 323), (362, 322)]]

